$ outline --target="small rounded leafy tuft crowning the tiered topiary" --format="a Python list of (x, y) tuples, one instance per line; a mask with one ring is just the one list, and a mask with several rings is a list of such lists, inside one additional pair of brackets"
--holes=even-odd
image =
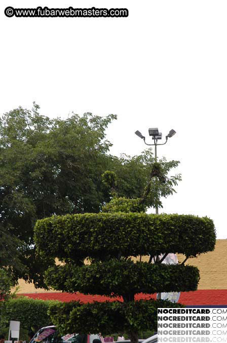
[(140, 199), (113, 198), (102, 207), (102, 212), (145, 212), (146, 206)]

